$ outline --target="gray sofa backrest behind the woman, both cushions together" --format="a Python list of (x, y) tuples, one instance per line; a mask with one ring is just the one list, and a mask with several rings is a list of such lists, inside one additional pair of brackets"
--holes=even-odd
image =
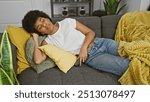
[[(114, 39), (118, 22), (122, 15), (107, 15), (102, 17), (74, 17), (81, 23), (93, 29), (97, 37)], [(60, 21), (64, 18), (52, 18), (53, 22)]]

